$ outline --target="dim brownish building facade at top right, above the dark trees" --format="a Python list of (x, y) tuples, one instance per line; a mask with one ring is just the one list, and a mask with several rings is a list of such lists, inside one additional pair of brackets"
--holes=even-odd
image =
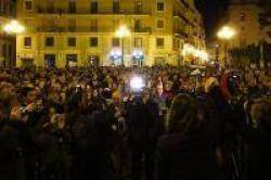
[(229, 8), (229, 25), (237, 33), (233, 48), (271, 43), (271, 8), (267, 0), (232, 0)]

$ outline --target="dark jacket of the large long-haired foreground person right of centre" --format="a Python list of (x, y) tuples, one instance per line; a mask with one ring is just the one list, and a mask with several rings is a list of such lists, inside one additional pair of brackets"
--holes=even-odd
[(162, 137), (157, 144), (157, 179), (219, 180), (211, 139), (205, 131)]

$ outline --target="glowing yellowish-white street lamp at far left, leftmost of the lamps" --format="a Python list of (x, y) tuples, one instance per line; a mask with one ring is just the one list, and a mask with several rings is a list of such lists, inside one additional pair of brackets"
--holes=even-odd
[[(14, 35), (16, 36), (17, 34), (24, 33), (25, 27), (21, 25), (17, 21), (13, 20), (3, 26), (3, 31), (10, 36), (14, 36)], [(10, 60), (10, 66), (12, 64), (11, 61), (12, 60)], [(7, 65), (7, 60), (4, 60), (4, 66), (5, 65)]]

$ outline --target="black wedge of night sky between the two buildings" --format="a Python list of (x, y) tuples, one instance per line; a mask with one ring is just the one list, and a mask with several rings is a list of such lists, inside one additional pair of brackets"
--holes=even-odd
[(202, 12), (207, 38), (210, 39), (225, 17), (230, 0), (195, 0), (197, 9)]

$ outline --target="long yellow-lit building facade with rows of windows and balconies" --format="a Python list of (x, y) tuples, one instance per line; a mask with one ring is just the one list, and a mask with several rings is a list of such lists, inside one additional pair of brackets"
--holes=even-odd
[(121, 46), (125, 65), (177, 65), (184, 43), (205, 48), (194, 0), (17, 0), (17, 16), (18, 66), (118, 65)]

